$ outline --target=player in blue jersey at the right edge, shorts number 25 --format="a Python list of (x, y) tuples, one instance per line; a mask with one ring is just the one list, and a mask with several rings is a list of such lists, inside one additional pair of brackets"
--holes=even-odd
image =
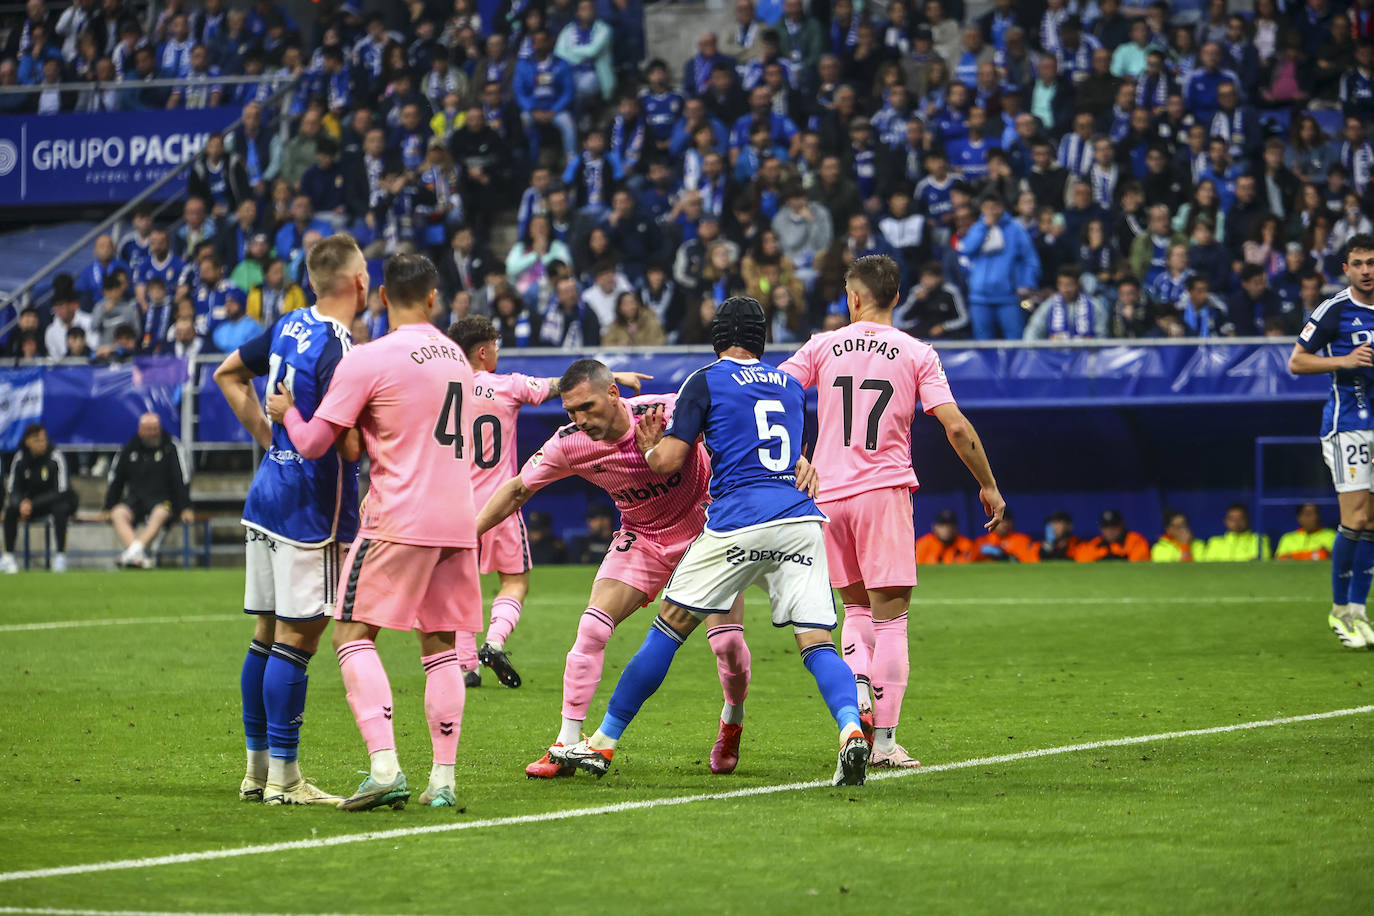
[(1322, 412), (1322, 457), (1341, 505), (1331, 548), (1331, 630), (1348, 648), (1374, 648), (1364, 604), (1374, 578), (1374, 235), (1345, 244), (1351, 286), (1316, 306), (1297, 336), (1289, 371), (1331, 376)]

